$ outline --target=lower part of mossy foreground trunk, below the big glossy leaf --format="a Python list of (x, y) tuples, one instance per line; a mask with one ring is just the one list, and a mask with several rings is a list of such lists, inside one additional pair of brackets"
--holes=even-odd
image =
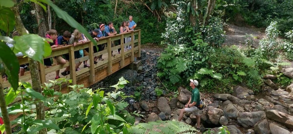
[[(39, 70), (38, 70), (38, 63), (37, 61), (28, 58), (28, 62), (30, 65), (30, 76), (32, 79), (32, 87), (33, 90), (42, 93), (42, 88), (41, 88), (41, 81), (40, 81), (40, 76), (39, 76)], [(38, 100), (36, 100), (38, 101)], [(40, 120), (45, 120), (45, 106), (44, 102), (38, 101), (36, 103), (36, 111), (37, 111), (37, 119)], [(47, 134), (47, 129), (44, 128), (39, 131), (39, 134)]]

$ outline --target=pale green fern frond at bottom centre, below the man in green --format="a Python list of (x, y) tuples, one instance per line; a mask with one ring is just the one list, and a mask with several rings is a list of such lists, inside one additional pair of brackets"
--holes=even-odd
[(130, 134), (196, 134), (195, 131), (193, 126), (176, 120), (139, 123), (128, 129)]

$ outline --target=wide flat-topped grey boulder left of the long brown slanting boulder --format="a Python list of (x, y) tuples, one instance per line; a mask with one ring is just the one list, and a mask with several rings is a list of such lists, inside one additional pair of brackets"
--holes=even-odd
[(243, 127), (253, 126), (255, 123), (265, 117), (265, 112), (241, 112), (238, 114), (237, 122)]

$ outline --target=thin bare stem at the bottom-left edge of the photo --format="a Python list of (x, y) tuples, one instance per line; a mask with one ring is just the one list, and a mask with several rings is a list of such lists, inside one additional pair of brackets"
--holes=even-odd
[[(0, 74), (0, 76), (2, 76), (2, 75)], [(3, 83), (2, 82), (0, 83), (0, 102), (1, 102), (0, 103), (0, 108), (1, 108), (2, 116), (3, 116), (3, 121), (4, 121), (4, 124), (5, 124), (6, 134), (11, 134), (12, 133), (11, 132), (11, 124), (10, 124), (10, 120), (9, 120), (9, 116), (8, 116), (8, 112), (7, 112), (7, 108), (6, 108), (6, 101), (5, 101), (4, 89), (3, 89)]]

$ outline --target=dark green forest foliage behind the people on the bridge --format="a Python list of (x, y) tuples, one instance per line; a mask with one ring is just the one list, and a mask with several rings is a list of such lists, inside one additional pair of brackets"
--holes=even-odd
[[(31, 33), (37, 33), (38, 25), (31, 4), (32, 2), (23, 2), (20, 4), (21, 18), (25, 27)], [(130, 2), (128, 4), (123, 1), (118, 1), (116, 13), (114, 13), (116, 3), (110, 0), (87, 0), (85, 2), (56, 0), (55, 4), (86, 27), (87, 30), (99, 28), (98, 25), (100, 22), (107, 24), (111, 21), (118, 31), (121, 23), (127, 21), (129, 15), (132, 15), (133, 20), (137, 23), (136, 29), (142, 30), (142, 44), (158, 44), (162, 40), (160, 36), (161, 32), (164, 31), (166, 23), (164, 17), (162, 16), (162, 21), (159, 22), (158, 18), (140, 1)], [(71, 32), (74, 30), (64, 20), (58, 18), (54, 11), (52, 11), (52, 28), (56, 29), (60, 34), (66, 30)]]

